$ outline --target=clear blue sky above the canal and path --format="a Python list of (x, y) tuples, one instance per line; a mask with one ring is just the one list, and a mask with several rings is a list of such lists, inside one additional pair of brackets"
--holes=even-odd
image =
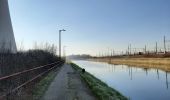
[[(67, 54), (92, 54), (108, 48), (162, 47), (170, 40), (170, 0), (9, 0), (17, 43), (58, 45), (63, 32)], [(170, 44), (170, 43), (169, 43)], [(168, 45), (169, 45), (168, 44)]]

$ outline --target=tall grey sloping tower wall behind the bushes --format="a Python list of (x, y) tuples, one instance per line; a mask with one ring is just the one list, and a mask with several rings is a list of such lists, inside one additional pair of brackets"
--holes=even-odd
[(17, 52), (8, 0), (0, 0), (0, 52)]

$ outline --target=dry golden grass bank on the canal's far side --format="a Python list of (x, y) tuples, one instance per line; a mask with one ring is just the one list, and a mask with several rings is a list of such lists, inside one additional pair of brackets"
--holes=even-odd
[(108, 62), (111, 64), (157, 68), (164, 71), (170, 71), (170, 58), (95, 58), (92, 60)]

